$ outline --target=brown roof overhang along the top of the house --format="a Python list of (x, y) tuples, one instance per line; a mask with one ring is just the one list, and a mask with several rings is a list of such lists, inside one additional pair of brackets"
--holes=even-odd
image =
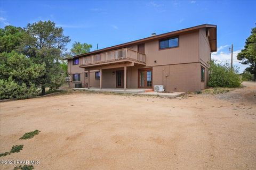
[(84, 54), (76, 55), (73, 57), (65, 58), (65, 60), (70, 60), (70, 59), (79, 58), (79, 57), (86, 57), (86, 56), (104, 53), (104, 52), (108, 52), (110, 50), (115, 50), (115, 49), (119, 49), (119, 48), (126, 48), (127, 46), (146, 43), (151, 40), (162, 39), (162, 38), (166, 38), (166, 37), (170, 37), (170, 36), (177, 36), (177, 35), (181, 35), (181, 34), (185, 34), (185, 33), (189, 33), (189, 32), (194, 32), (201, 28), (206, 28), (210, 31), (209, 42), (210, 42), (211, 52), (216, 52), (217, 51), (217, 25), (203, 24), (203, 25), (197, 25), (195, 27), (190, 27), (190, 28), (186, 28), (186, 29), (163, 33), (163, 34), (157, 35), (157, 36), (142, 38), (139, 40), (131, 41), (129, 43), (119, 44), (119, 45), (95, 50), (93, 52), (84, 53)]

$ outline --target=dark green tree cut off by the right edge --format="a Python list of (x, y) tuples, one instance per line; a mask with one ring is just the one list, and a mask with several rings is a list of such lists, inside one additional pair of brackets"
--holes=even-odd
[(245, 71), (253, 74), (253, 81), (256, 81), (256, 27), (251, 31), (251, 35), (246, 39), (244, 49), (237, 55), (242, 64), (250, 64)]

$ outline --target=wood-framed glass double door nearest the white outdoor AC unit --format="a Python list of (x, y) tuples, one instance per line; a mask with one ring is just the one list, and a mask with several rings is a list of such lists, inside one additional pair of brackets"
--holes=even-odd
[(141, 69), (138, 73), (138, 87), (152, 88), (152, 69)]

